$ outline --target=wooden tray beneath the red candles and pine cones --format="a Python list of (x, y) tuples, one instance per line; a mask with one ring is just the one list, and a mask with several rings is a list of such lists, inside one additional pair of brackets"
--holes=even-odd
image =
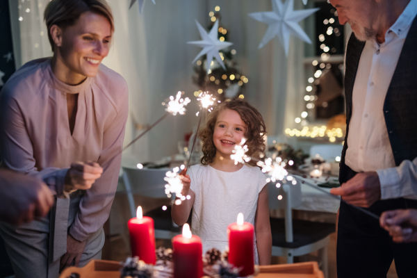
[[(72, 273), (79, 274), (80, 278), (120, 278), (120, 268), (122, 266), (116, 261), (92, 260), (83, 268), (72, 266), (65, 269), (60, 278), (70, 277)], [(325, 278), (325, 276), (314, 261), (260, 266), (256, 278)]]

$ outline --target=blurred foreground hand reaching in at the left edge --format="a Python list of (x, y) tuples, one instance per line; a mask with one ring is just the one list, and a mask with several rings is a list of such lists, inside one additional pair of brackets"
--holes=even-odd
[(49, 188), (37, 177), (1, 170), (0, 220), (19, 225), (44, 217), (54, 204)]

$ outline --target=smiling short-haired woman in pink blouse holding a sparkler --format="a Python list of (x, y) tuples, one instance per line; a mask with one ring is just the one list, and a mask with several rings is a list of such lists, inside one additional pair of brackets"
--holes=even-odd
[(114, 30), (106, 1), (52, 0), (44, 19), (54, 56), (26, 63), (0, 94), (3, 164), (56, 195), (46, 219), (0, 224), (16, 277), (101, 258), (128, 113), (126, 82), (100, 64)]

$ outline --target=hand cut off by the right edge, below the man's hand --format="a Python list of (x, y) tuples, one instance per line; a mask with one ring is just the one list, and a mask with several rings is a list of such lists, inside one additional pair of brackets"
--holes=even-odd
[(382, 228), (389, 231), (395, 243), (417, 242), (417, 210), (385, 211), (379, 218)]

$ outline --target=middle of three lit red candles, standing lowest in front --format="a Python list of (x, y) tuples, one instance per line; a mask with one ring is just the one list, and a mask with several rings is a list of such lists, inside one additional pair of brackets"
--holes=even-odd
[(184, 224), (182, 235), (172, 238), (172, 247), (174, 249), (174, 278), (203, 276), (202, 240), (191, 234), (188, 224)]

